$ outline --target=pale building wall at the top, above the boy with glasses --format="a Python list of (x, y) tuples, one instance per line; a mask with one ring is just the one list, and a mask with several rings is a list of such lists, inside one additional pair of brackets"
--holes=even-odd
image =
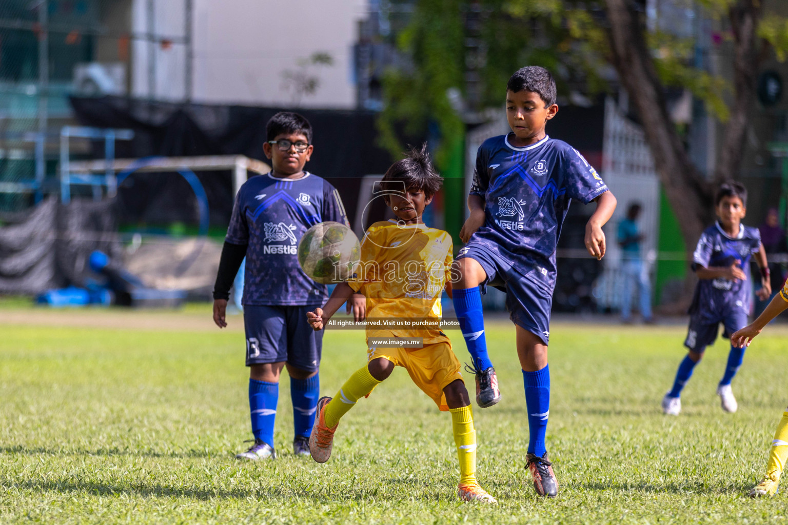
[[(134, 0), (132, 27), (147, 32), (149, 0)], [(184, 35), (184, 0), (153, 0), (154, 31)], [(214, 104), (285, 107), (355, 107), (353, 45), (366, 0), (193, 0), (192, 100)], [(136, 40), (132, 56), (132, 94), (150, 97), (148, 50)], [(156, 48), (155, 98), (182, 100), (186, 48)], [(300, 65), (327, 53), (333, 65)], [(285, 76), (318, 79), (314, 94), (288, 89)]]

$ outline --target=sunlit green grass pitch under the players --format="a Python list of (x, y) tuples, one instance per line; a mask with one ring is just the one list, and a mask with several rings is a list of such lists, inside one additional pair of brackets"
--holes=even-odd
[[(0, 310), (12, 314), (39, 311)], [(403, 370), (342, 420), (324, 465), (292, 455), (283, 379), (279, 459), (240, 463), (233, 456), (251, 432), (239, 317), (220, 332), (207, 309), (132, 312), (128, 328), (117, 312), (62, 314), (97, 327), (58, 327), (60, 315), (0, 325), (0, 523), (784, 523), (788, 514), (782, 494), (745, 497), (788, 400), (784, 328), (749, 349), (734, 381), (738, 413), (723, 413), (715, 395), (727, 356), (718, 341), (674, 418), (659, 402), (684, 327), (554, 324), (548, 450), (562, 487), (547, 501), (523, 468), (514, 331), (488, 327), (504, 398), (474, 409), (478, 478), (500, 501), (487, 507), (456, 500), (451, 418)], [(364, 364), (363, 340), (326, 334), (323, 394)]]

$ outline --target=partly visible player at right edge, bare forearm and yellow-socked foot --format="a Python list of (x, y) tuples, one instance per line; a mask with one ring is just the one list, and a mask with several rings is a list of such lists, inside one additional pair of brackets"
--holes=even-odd
[[(763, 268), (761, 271), (763, 272)], [(738, 348), (749, 346), (749, 343), (753, 342), (753, 338), (760, 334), (760, 331), (786, 308), (788, 308), (788, 282), (782, 285), (780, 293), (775, 295), (775, 298), (771, 300), (764, 312), (756, 320), (741, 330), (735, 331), (730, 336), (730, 344)], [(785, 467), (786, 460), (788, 460), (788, 409), (782, 412), (782, 419), (777, 425), (775, 438), (771, 442), (764, 479), (749, 491), (749, 496), (759, 497), (777, 494), (780, 475), (782, 474), (782, 468)]]

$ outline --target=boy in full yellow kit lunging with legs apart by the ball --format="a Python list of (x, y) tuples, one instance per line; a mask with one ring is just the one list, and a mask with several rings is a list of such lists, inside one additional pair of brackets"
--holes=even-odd
[[(322, 397), (318, 401), (310, 452), (315, 461), (325, 463), (331, 455), (340, 418), (356, 401), (368, 396), (377, 383), (388, 378), (395, 366), (401, 366), (440, 410), (452, 413), (459, 457), (459, 498), (496, 503), (476, 481), (476, 431), (470, 397), (452, 344), (438, 327), (440, 294), (444, 289), (452, 294), (448, 279), (452, 238), (422, 222), (422, 212), (440, 188), (440, 175), (429, 161), (426, 146), (412, 150), (407, 158), (388, 168), (381, 187), (386, 193), (385, 203), (397, 220), (370, 226), (362, 242), (358, 272), (347, 283), (336, 286), (322, 309), (307, 313), (309, 322), (314, 330), (322, 330), (351, 294), (360, 291), (366, 296), (368, 323), (421, 320), (431, 328), (367, 325), (368, 364), (351, 375), (333, 398)], [(403, 338), (420, 338), (422, 342), (418, 347), (404, 348), (399, 346)]]

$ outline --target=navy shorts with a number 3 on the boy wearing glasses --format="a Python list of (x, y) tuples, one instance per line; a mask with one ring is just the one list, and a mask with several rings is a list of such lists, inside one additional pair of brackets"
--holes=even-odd
[(314, 372), (320, 368), (323, 331), (314, 331), (307, 312), (316, 306), (243, 306), (247, 366), (285, 361)]

